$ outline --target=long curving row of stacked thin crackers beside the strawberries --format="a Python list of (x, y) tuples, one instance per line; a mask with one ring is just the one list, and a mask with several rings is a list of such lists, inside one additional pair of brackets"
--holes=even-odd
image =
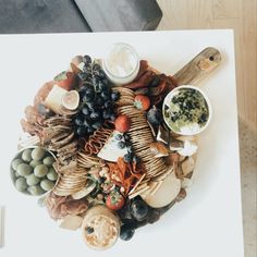
[(123, 87), (117, 87), (114, 90), (121, 94), (117, 102), (118, 110), (119, 113), (125, 114), (131, 119), (131, 128), (127, 134), (131, 137), (136, 156), (140, 158), (146, 169), (144, 178), (130, 192), (130, 198), (143, 193), (154, 194), (173, 169), (167, 166), (163, 159), (154, 158), (149, 145), (155, 139), (147, 122), (146, 112), (134, 107), (134, 91)]

